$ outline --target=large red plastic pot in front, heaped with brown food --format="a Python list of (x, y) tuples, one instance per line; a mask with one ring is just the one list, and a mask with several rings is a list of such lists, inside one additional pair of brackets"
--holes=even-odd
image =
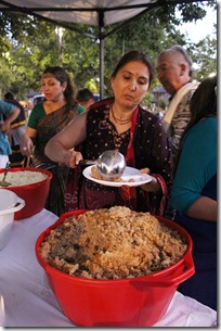
[(167, 311), (178, 285), (194, 275), (192, 239), (176, 222), (156, 216), (166, 226), (177, 229), (187, 241), (182, 259), (165, 270), (147, 276), (119, 279), (93, 280), (66, 275), (49, 266), (39, 247), (51, 229), (65, 218), (86, 211), (63, 214), (46, 229), (36, 242), (36, 256), (44, 269), (52, 291), (64, 314), (80, 327), (152, 327)]

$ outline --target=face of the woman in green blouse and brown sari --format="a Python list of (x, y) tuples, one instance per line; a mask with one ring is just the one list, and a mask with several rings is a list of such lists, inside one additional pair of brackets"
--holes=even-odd
[(52, 75), (52, 74), (44, 74), (41, 78), (41, 90), (49, 101), (58, 101), (64, 99), (64, 90), (67, 84), (61, 82)]

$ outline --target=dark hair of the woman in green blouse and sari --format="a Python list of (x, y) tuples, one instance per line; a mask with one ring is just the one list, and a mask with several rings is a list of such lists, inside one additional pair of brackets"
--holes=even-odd
[(67, 105), (69, 107), (74, 107), (74, 106), (78, 105), (78, 102), (75, 99), (74, 85), (72, 84), (69, 76), (67, 75), (67, 73), (65, 72), (65, 69), (63, 67), (61, 67), (61, 66), (47, 67), (43, 72), (43, 75), (44, 74), (53, 75), (54, 78), (61, 82), (61, 85), (63, 82), (66, 82), (67, 86), (66, 86), (66, 89), (64, 90), (64, 97), (65, 97), (65, 100), (67, 102)]

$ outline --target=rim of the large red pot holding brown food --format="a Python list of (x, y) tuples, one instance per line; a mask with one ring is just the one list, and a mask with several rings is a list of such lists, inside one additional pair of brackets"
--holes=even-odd
[(35, 245), (35, 252), (36, 252), (36, 256), (37, 256), (37, 260), (39, 262), (39, 264), (41, 265), (41, 267), (48, 272), (53, 272), (60, 277), (63, 277), (65, 279), (75, 279), (75, 281), (79, 281), (79, 282), (83, 282), (83, 283), (100, 283), (100, 284), (109, 284), (109, 283), (128, 283), (129, 281), (139, 281), (139, 280), (146, 280), (146, 279), (151, 279), (151, 278), (156, 278), (157, 276), (160, 275), (160, 277), (164, 277), (165, 273), (168, 273), (168, 272), (171, 272), (173, 271), (173, 269), (178, 268), (181, 264), (183, 264), (183, 260), (185, 258), (188, 259), (188, 256), (190, 254), (192, 254), (192, 250), (193, 250), (193, 241), (192, 241), (192, 238), (191, 235), (188, 234), (188, 232), (183, 228), (181, 227), (180, 225), (178, 225), (177, 222), (174, 222), (173, 220), (171, 219), (168, 219), (168, 218), (165, 218), (165, 217), (160, 217), (160, 216), (157, 216), (157, 215), (153, 215), (155, 216), (159, 221), (166, 224), (166, 226), (170, 227), (170, 228), (173, 228), (173, 229), (177, 229), (179, 232), (182, 233), (182, 235), (185, 237), (186, 239), (186, 242), (187, 242), (187, 250), (185, 252), (185, 254), (183, 255), (183, 257), (178, 260), (177, 263), (174, 263), (172, 266), (168, 267), (168, 268), (165, 268), (160, 271), (156, 271), (156, 272), (152, 272), (150, 275), (145, 275), (145, 276), (140, 276), (140, 277), (134, 277), (134, 278), (123, 278), (123, 279), (101, 279), (101, 280), (98, 280), (98, 279), (88, 279), (88, 278), (81, 278), (81, 277), (78, 277), (78, 276), (73, 276), (73, 275), (68, 275), (68, 273), (65, 273), (63, 271), (60, 271), (57, 270), (56, 268), (53, 268), (51, 267), (43, 258), (42, 256), (40, 255), (39, 253), (39, 246), (41, 244), (41, 242), (43, 241), (43, 239), (51, 232), (52, 229), (55, 229), (58, 225), (61, 225), (62, 222), (64, 222), (64, 220), (67, 218), (67, 217), (70, 217), (70, 216), (76, 216), (76, 215), (80, 215), (80, 214), (83, 214), (86, 212), (89, 212), (88, 209), (78, 209), (78, 211), (74, 211), (74, 212), (68, 212), (68, 213), (64, 213), (61, 215), (61, 217), (53, 224), (51, 225), (50, 227), (48, 227), (43, 232), (41, 232), (36, 241), (36, 245)]

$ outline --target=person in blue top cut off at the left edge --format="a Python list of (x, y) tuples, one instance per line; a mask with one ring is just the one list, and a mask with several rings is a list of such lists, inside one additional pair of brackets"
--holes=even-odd
[(4, 168), (12, 153), (8, 138), (11, 123), (18, 116), (20, 109), (0, 100), (0, 168)]

